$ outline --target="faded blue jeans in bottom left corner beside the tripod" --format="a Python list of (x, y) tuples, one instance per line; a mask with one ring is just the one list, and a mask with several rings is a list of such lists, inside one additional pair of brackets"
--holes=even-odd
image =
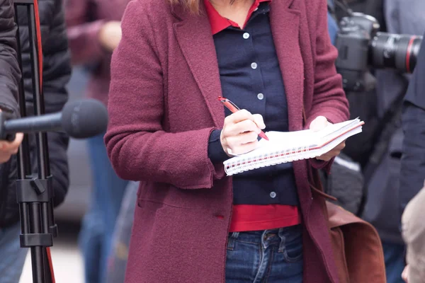
[(21, 224), (0, 229), (0, 283), (18, 283), (28, 248), (21, 248)]

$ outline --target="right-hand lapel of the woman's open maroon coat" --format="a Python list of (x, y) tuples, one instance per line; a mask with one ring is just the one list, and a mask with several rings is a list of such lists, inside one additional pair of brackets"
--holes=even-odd
[(293, 0), (271, 2), (270, 21), (278, 55), (286, 100), (289, 130), (302, 127), (302, 97), (304, 95), (304, 64), (300, 51), (300, 11), (289, 8)]

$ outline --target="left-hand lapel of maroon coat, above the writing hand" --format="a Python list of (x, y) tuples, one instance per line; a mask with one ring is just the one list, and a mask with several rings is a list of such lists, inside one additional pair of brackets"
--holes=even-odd
[(174, 32), (183, 56), (188, 62), (216, 127), (222, 127), (225, 110), (217, 98), (222, 95), (217, 54), (208, 16), (194, 16), (180, 6), (174, 9), (181, 19), (174, 23)]

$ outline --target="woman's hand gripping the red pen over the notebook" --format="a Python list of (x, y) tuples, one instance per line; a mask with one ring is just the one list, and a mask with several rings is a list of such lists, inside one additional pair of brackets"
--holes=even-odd
[(220, 141), (227, 155), (246, 154), (256, 148), (261, 129), (266, 125), (263, 116), (239, 110), (225, 119)]

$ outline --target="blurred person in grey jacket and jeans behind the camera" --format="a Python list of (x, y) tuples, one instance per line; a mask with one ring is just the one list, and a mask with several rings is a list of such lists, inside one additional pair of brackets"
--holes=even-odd
[[(376, 2), (376, 1), (375, 1)], [(384, 0), (383, 15), (388, 33), (422, 35), (425, 31), (424, 0)], [(383, 56), (383, 54), (382, 54)], [(377, 114), (384, 117), (393, 101), (404, 96), (409, 83), (409, 76), (392, 69), (375, 70)], [(401, 108), (401, 105), (399, 105)], [(400, 186), (400, 163), (402, 156), (403, 132), (401, 117), (397, 119), (397, 130), (387, 140), (388, 147), (384, 158), (370, 174), (368, 195), (362, 214), (365, 221), (373, 224), (378, 230), (384, 248), (385, 266), (388, 283), (402, 283), (404, 269), (405, 246), (401, 233), (401, 216), (406, 202), (411, 199), (409, 190), (418, 192), (420, 185), (407, 188)], [(365, 174), (370, 168), (365, 167)], [(403, 173), (402, 173), (403, 175)], [(405, 175), (405, 174), (404, 174)], [(396, 209), (400, 207), (401, 209)]]

